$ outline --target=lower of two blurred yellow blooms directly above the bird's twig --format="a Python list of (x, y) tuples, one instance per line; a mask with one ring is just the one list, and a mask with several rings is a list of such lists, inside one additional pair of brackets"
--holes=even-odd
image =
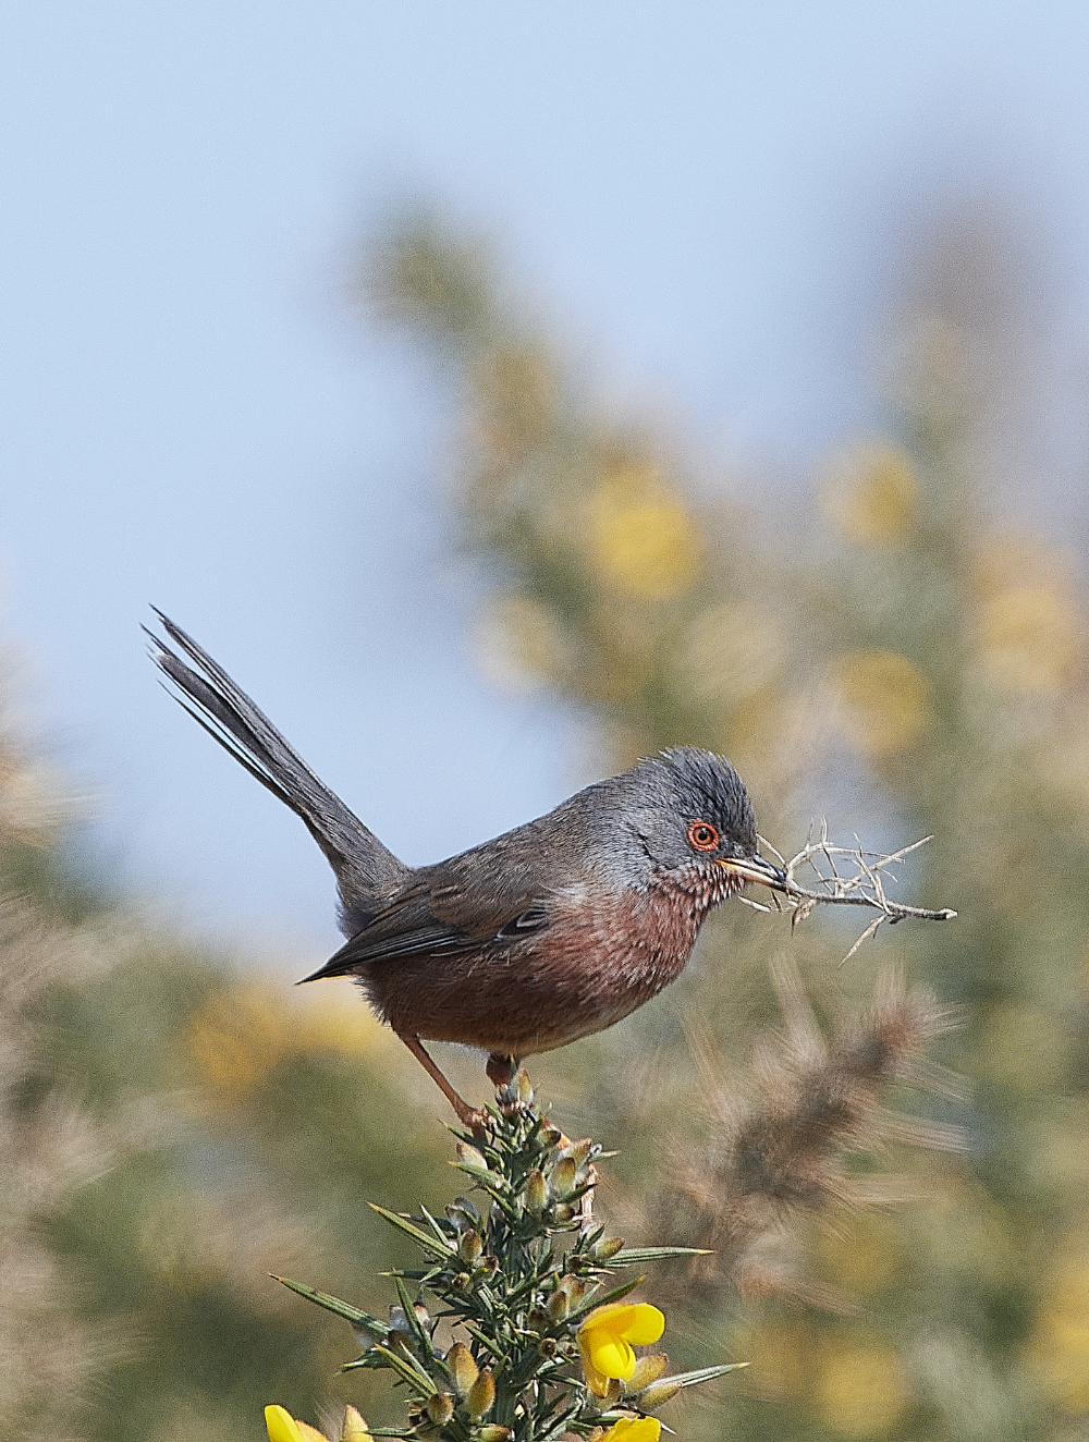
[(858, 747), (873, 757), (913, 746), (930, 721), (926, 679), (894, 650), (851, 650), (832, 666), (847, 722)]

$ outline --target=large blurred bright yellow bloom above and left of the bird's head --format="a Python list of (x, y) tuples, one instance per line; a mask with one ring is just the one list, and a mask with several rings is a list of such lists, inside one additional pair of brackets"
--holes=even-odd
[(649, 469), (617, 470), (600, 483), (587, 539), (601, 583), (648, 600), (684, 594), (702, 565), (691, 516)]

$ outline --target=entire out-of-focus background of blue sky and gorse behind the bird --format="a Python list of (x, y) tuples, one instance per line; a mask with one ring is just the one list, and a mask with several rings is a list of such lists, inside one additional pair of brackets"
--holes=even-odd
[(622, 1148), (629, 1240), (678, 1156), (713, 1236), (769, 963), (828, 1035), (903, 968), (972, 1090), (889, 1102), (966, 1149), (782, 1217), (811, 1288), (663, 1275), (676, 1364), (753, 1363), (666, 1420), (1089, 1436), (1083, 9), (195, 0), (4, 40), (0, 1433), (397, 1420), (267, 1273), (381, 1312), (363, 1201), (454, 1190), (404, 1048), (290, 989), (332, 875), (156, 686), (154, 603), (410, 862), (688, 741), (783, 852), (933, 833), (903, 895), (955, 924), (839, 968), (838, 917), (730, 906), (534, 1076)]

